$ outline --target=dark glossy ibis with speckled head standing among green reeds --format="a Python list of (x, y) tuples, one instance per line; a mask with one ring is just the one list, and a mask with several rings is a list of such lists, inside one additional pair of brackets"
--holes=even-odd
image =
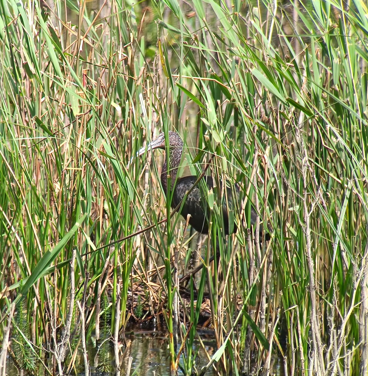
[[(183, 150), (183, 141), (176, 132), (168, 132), (169, 136), (169, 168), (167, 168), (167, 158), (165, 158), (165, 162), (162, 166), (161, 171), (161, 183), (164, 189), (165, 194), (167, 194), (167, 176), (170, 176), (170, 190), (173, 190), (171, 207), (176, 208), (176, 206), (181, 203), (182, 199), (184, 198), (187, 191), (193, 186), (193, 184), (198, 179), (197, 176), (185, 176), (179, 177), (176, 179), (176, 174), (178, 172), (178, 166), (181, 159), (181, 154)], [(154, 141), (148, 144), (147, 147), (143, 147), (137, 153), (137, 156), (142, 155), (145, 153), (146, 150), (153, 150), (153, 149), (166, 149), (165, 144), (165, 135), (161, 133)], [(203, 179), (205, 180), (208, 190), (213, 188), (214, 182), (211, 176), (204, 176)], [(220, 186), (220, 191), (221, 191)], [(224, 220), (224, 230), (225, 234), (229, 234), (229, 215), (228, 215), (228, 208), (232, 210), (232, 201), (233, 201), (233, 191), (236, 192), (236, 200), (239, 200), (239, 187), (235, 185), (234, 189), (226, 187), (226, 196), (227, 202), (224, 203), (222, 206), (223, 212), (223, 220)], [(235, 205), (235, 208), (239, 208), (239, 205)], [(190, 214), (189, 224), (198, 232), (201, 233), (208, 233), (208, 220), (210, 217), (210, 208), (208, 208), (208, 204), (206, 200), (202, 199), (202, 194), (199, 186), (195, 186), (192, 191), (188, 194), (186, 201), (182, 204), (182, 209), (180, 214), (187, 220), (187, 215)], [(235, 216), (232, 215), (232, 218)], [(251, 224), (255, 224), (256, 222), (256, 211), (254, 208), (251, 208), (250, 214), (250, 222)], [(232, 232), (237, 231), (237, 226), (234, 223), (232, 226)], [(260, 230), (261, 234), (261, 230)]]

